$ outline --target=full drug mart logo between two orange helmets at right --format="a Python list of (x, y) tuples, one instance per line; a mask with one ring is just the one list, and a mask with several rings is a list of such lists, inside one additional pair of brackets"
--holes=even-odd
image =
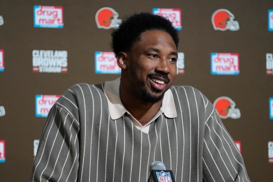
[(211, 74), (238, 75), (239, 68), (238, 53), (211, 53)]

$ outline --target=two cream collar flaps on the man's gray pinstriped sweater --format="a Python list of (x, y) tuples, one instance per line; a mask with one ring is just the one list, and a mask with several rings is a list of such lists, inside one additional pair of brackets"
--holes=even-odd
[[(120, 100), (120, 78), (113, 81), (106, 81), (104, 84), (104, 93), (107, 99), (111, 119), (119, 119), (125, 112), (128, 112)], [(177, 117), (174, 97), (170, 89), (164, 94), (161, 109), (168, 118)]]

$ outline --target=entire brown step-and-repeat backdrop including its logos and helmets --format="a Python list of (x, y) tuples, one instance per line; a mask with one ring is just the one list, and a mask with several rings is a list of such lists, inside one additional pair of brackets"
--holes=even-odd
[(0, 181), (27, 181), (49, 109), (120, 76), (110, 34), (135, 12), (179, 31), (175, 85), (214, 104), (251, 181), (273, 180), (273, 1), (1, 1)]

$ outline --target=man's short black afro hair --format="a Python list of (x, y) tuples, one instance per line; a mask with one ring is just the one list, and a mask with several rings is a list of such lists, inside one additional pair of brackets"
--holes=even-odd
[(116, 57), (120, 52), (129, 51), (140, 35), (147, 30), (165, 31), (173, 38), (176, 48), (178, 47), (178, 31), (171, 21), (160, 15), (151, 13), (136, 13), (121, 22), (120, 26), (112, 32), (111, 47)]

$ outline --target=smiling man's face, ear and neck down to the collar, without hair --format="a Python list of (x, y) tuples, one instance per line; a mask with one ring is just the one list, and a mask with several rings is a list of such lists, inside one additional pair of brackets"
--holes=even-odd
[(116, 54), (122, 69), (120, 99), (144, 126), (159, 111), (164, 93), (174, 82), (176, 45), (167, 32), (147, 30), (129, 51)]

